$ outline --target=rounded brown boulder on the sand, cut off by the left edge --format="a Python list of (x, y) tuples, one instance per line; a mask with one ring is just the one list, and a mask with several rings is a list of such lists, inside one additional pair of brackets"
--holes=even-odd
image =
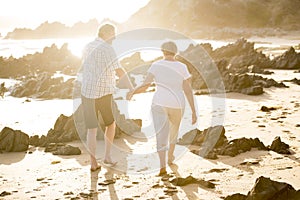
[(0, 150), (5, 152), (26, 151), (29, 146), (29, 136), (19, 130), (5, 127), (0, 132)]

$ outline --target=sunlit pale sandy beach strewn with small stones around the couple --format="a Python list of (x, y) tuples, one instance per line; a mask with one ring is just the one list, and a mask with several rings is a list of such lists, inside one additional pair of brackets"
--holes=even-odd
[[(300, 76), (288, 70), (274, 71), (271, 77), (276, 81)], [(167, 168), (170, 177), (162, 179), (156, 176), (159, 164), (153, 133), (115, 139), (113, 155), (118, 165), (102, 167), (97, 172), (90, 171), (88, 152), (80, 141), (71, 143), (82, 150), (78, 156), (55, 156), (44, 152), (44, 148), (30, 146), (27, 152), (0, 154), (0, 193), (10, 193), (0, 199), (222, 199), (234, 193), (247, 195), (260, 176), (286, 182), (299, 190), (300, 93), (298, 85), (285, 83), (290, 88), (268, 88), (260, 96), (227, 93), (220, 113), (212, 112), (208, 106), (209, 95), (196, 96), (197, 128), (208, 128), (211, 117), (220, 115), (229, 140), (257, 137), (267, 146), (280, 136), (290, 145), (292, 155), (252, 149), (235, 157), (219, 156), (210, 160), (191, 153), (196, 146), (177, 145), (175, 164)], [(142, 96), (137, 96), (135, 101), (139, 102), (139, 98)], [(13, 97), (0, 100), (3, 119), (0, 129), (9, 126), (29, 135), (42, 135), (53, 127), (59, 114), (72, 114), (72, 100), (25, 100)], [(57, 109), (47, 109), (54, 106)], [(261, 106), (277, 107), (277, 110), (262, 112)], [(180, 137), (195, 128), (189, 120), (187, 109)], [(99, 140), (97, 159), (100, 162), (103, 146)], [(209, 189), (197, 184), (179, 187), (169, 182), (174, 177), (189, 175), (211, 181), (216, 187)]]

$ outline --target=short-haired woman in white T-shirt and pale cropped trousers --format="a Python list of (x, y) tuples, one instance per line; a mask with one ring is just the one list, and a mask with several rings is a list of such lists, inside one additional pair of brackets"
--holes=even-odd
[(184, 94), (192, 110), (192, 124), (197, 121), (190, 85), (191, 75), (186, 65), (175, 60), (176, 44), (171, 41), (166, 42), (162, 44), (161, 50), (164, 58), (154, 62), (148, 70), (144, 83), (127, 94), (127, 99), (131, 99), (134, 94), (145, 92), (153, 81), (156, 84), (157, 88), (153, 96), (151, 111), (157, 134), (156, 144), (160, 160), (160, 176), (167, 173), (166, 151), (168, 150), (169, 164), (172, 164), (175, 159), (173, 154), (185, 108)]

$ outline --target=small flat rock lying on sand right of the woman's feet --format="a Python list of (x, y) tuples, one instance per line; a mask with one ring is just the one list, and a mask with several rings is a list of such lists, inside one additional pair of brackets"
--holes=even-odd
[(186, 178), (177, 177), (177, 178), (172, 179), (170, 182), (173, 185), (176, 185), (176, 186), (185, 186), (185, 185), (189, 185), (189, 184), (198, 184), (198, 185), (201, 185), (201, 186), (206, 187), (206, 188), (215, 188), (215, 184), (213, 184), (209, 181), (194, 178), (193, 176), (188, 176)]

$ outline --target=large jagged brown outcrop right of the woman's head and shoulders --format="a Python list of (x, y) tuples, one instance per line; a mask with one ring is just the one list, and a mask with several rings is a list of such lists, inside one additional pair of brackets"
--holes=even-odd
[(192, 87), (195, 90), (260, 95), (263, 88), (286, 87), (284, 83), (248, 73), (257, 72), (257, 68), (263, 72), (263, 68), (271, 67), (272, 62), (257, 52), (253, 43), (243, 38), (214, 51), (207, 44), (190, 45), (180, 53), (177, 60), (188, 66), (193, 75)]

